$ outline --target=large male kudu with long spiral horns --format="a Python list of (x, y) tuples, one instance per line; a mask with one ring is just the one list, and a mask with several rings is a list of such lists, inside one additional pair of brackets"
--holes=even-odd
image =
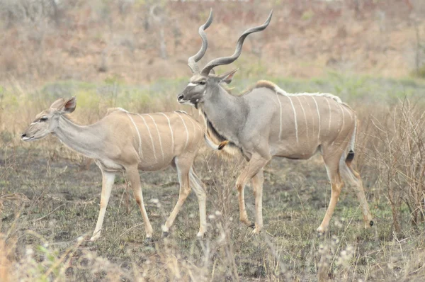
[[(200, 109), (205, 116), (208, 135), (217, 142), (229, 142), (225, 150), (237, 148), (248, 161), (236, 186), (239, 219), (251, 225), (246, 215), (244, 187), (252, 181), (256, 206), (254, 232), (263, 227), (263, 167), (274, 156), (309, 159), (316, 152), (322, 154), (331, 181), (331, 200), (317, 231), (327, 230), (343, 186), (341, 176), (348, 184), (356, 186), (365, 227), (371, 226), (372, 215), (360, 175), (351, 167), (357, 118), (350, 107), (331, 94), (289, 94), (270, 81), (259, 81), (249, 91), (234, 96), (222, 87), (222, 83), (229, 84), (237, 69), (220, 75), (211, 74), (214, 67), (237, 60), (246, 36), (264, 30), (271, 16), (272, 13), (263, 25), (241, 35), (232, 56), (212, 60), (202, 71), (190, 58), (188, 65), (193, 77), (177, 99)], [(207, 40), (202, 28), (199, 34), (203, 38), (203, 48), (206, 48)], [(200, 58), (197, 57), (197, 60)]]

